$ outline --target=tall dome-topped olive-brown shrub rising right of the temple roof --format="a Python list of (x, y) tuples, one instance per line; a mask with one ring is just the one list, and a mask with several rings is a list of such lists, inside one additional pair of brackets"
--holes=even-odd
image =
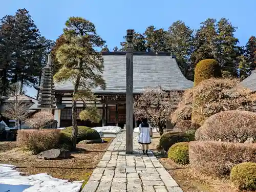
[(204, 59), (198, 62), (195, 69), (194, 86), (211, 77), (222, 77), (219, 63), (215, 59)]

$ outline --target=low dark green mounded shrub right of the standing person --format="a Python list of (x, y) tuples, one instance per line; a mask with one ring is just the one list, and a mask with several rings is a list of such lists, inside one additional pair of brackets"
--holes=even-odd
[(170, 146), (179, 142), (189, 142), (195, 140), (194, 134), (186, 134), (179, 132), (167, 132), (163, 134), (159, 140), (159, 149), (168, 152)]

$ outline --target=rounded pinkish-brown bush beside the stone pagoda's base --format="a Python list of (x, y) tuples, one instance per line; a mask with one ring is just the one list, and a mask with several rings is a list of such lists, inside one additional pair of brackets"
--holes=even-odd
[(26, 120), (26, 123), (33, 129), (41, 129), (54, 120), (54, 116), (47, 111), (41, 111)]

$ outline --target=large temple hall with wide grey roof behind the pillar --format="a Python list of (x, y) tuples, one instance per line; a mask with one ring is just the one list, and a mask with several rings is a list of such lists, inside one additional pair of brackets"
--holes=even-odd
[[(102, 52), (104, 59), (103, 78), (106, 89), (92, 90), (97, 96), (96, 104), (102, 119), (98, 123), (78, 120), (78, 125), (123, 127), (125, 124), (126, 94), (126, 52)], [(193, 87), (180, 71), (176, 59), (168, 52), (134, 52), (133, 54), (133, 93), (142, 94), (145, 88), (161, 86), (165, 91), (184, 91)], [(55, 84), (54, 117), (58, 127), (72, 125), (72, 82)], [(84, 109), (82, 101), (77, 102), (77, 114)], [(136, 122), (134, 121), (134, 125)]]

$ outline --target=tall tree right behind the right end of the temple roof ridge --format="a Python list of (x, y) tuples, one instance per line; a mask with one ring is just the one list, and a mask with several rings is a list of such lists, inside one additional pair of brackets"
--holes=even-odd
[(193, 30), (186, 26), (184, 22), (178, 20), (169, 27), (167, 35), (168, 50), (174, 52), (183, 75), (193, 80), (194, 66), (190, 61), (193, 52)]

